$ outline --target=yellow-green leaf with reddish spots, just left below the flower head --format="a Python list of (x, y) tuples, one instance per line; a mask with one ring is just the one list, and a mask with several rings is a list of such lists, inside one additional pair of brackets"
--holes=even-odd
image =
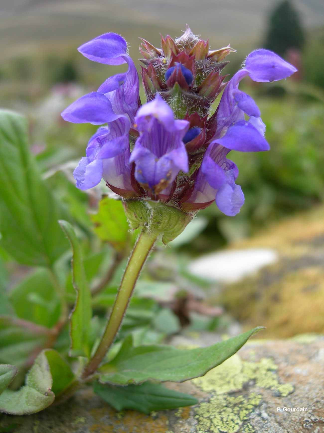
[(99, 203), (96, 215), (91, 216), (95, 233), (103, 241), (109, 242), (117, 251), (123, 251), (132, 241), (123, 204), (120, 200), (105, 197)]

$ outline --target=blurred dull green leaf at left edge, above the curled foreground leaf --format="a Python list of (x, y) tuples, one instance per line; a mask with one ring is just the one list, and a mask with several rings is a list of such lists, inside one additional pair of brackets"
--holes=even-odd
[(0, 362), (23, 367), (32, 353), (44, 347), (48, 329), (12, 316), (0, 316)]

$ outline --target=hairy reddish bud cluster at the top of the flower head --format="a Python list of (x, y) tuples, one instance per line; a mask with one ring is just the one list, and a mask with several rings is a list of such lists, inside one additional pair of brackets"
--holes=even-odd
[(194, 113), (205, 118), (225, 86), (225, 76), (220, 72), (228, 62), (223, 60), (235, 50), (228, 46), (210, 51), (209, 42), (198, 39), (188, 26), (178, 39), (162, 37), (162, 49), (142, 41), (141, 62), (145, 65), (142, 79), (147, 100), (160, 93), (177, 118), (184, 119)]

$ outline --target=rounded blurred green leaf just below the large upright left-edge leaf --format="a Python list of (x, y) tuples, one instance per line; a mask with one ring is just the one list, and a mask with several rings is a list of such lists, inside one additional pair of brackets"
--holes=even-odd
[(47, 269), (37, 269), (14, 287), (9, 299), (18, 317), (51, 328), (60, 316), (60, 300)]

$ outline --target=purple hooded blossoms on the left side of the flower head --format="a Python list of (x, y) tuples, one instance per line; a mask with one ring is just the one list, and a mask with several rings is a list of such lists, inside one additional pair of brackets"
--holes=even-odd
[(108, 78), (97, 92), (79, 98), (62, 113), (64, 120), (73, 123), (108, 124), (89, 140), (86, 157), (81, 158), (73, 173), (76, 186), (86, 190), (104, 178), (116, 191), (133, 195), (129, 130), (140, 99), (138, 75), (127, 55), (127, 43), (115, 33), (106, 33), (81, 45), (79, 52), (106, 65), (127, 63), (128, 70)]

